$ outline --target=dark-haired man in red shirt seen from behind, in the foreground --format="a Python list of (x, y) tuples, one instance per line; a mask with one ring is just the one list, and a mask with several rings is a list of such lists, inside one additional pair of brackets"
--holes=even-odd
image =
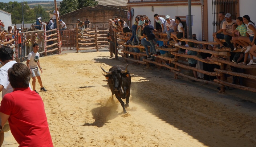
[(8, 70), (9, 82), (14, 90), (5, 94), (1, 101), (1, 126), (9, 121), (19, 147), (53, 147), (44, 102), (29, 88), (30, 74), (29, 68), (21, 63), (13, 64)]

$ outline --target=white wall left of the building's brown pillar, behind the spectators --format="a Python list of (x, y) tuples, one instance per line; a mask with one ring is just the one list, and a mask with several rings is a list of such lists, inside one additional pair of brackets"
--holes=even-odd
[[(155, 6), (154, 12), (151, 12), (150, 6), (144, 7), (132, 7), (134, 9), (134, 16), (132, 18), (132, 24), (134, 24), (135, 16), (146, 15), (151, 20), (151, 25), (154, 26), (154, 14), (158, 15), (169, 15), (172, 19), (175, 16), (186, 16), (188, 15), (188, 6)], [(193, 15), (192, 34), (196, 34), (198, 40), (202, 40), (202, 11), (201, 6), (192, 6), (191, 14)]]

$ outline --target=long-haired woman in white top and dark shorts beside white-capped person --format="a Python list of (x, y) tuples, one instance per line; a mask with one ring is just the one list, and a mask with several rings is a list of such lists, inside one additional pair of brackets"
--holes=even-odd
[[(181, 45), (181, 41), (179, 41), (179, 43), (178, 43), (177, 39), (181, 39), (182, 40), (182, 39), (185, 38), (185, 30), (183, 28), (183, 25), (182, 25), (181, 20), (180, 20), (179, 17), (176, 17), (175, 22), (176, 22), (176, 24), (178, 24), (178, 31), (172, 32), (171, 33), (171, 37), (175, 41), (175, 46), (179, 46), (179, 45)], [(175, 28), (176, 27), (177, 26), (175, 26)]]

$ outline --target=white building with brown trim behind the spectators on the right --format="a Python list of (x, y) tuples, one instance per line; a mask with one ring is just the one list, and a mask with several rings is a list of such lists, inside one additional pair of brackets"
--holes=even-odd
[[(135, 16), (146, 15), (154, 22), (154, 14), (160, 17), (169, 15), (172, 19), (180, 17), (183, 26), (186, 26), (188, 15), (188, 1), (184, 0), (128, 0), (129, 11), (134, 10), (131, 24)], [(213, 41), (212, 33), (216, 32), (218, 13), (223, 11), (231, 13), (232, 18), (249, 15), (251, 21), (256, 22), (256, 0), (191, 0), (191, 14), (193, 15), (192, 34), (195, 33), (198, 40)], [(186, 29), (186, 28), (185, 28)], [(187, 30), (187, 29), (186, 29)]]

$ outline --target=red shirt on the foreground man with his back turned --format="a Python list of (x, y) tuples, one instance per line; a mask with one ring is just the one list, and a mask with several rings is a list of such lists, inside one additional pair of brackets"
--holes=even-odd
[(10, 115), (9, 125), (19, 147), (53, 147), (44, 102), (29, 87), (5, 94), (0, 112)]

